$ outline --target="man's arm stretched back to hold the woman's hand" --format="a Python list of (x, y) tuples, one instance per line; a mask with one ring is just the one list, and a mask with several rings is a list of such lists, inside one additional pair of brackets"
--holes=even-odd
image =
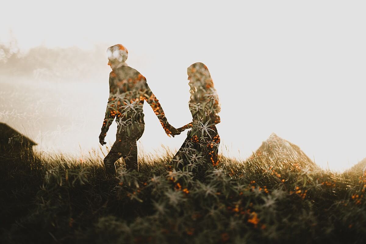
[(163, 110), (163, 108), (161, 108), (159, 100), (155, 97), (155, 95), (153, 94), (153, 92), (151, 91), (151, 89), (147, 85), (147, 83), (145, 83), (144, 98), (145, 98), (146, 102), (154, 110), (154, 113), (155, 113), (156, 117), (158, 117), (160, 124), (163, 127), (165, 133), (168, 136), (172, 135), (173, 137), (174, 137), (174, 135), (179, 135), (180, 132), (168, 123), (168, 120), (165, 117), (164, 110)]

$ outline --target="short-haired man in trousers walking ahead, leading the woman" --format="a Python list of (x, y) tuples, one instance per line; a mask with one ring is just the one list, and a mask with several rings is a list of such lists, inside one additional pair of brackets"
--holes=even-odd
[(116, 44), (107, 49), (107, 54), (112, 72), (109, 74), (109, 99), (99, 142), (102, 146), (106, 144), (104, 138), (116, 118), (116, 142), (103, 161), (105, 172), (115, 175), (115, 162), (120, 157), (124, 158), (126, 168), (138, 169), (136, 142), (145, 128), (142, 109), (144, 100), (154, 110), (168, 136), (174, 137), (180, 132), (168, 123), (159, 101), (146, 83), (146, 78), (125, 63), (128, 57), (127, 49), (121, 44)]

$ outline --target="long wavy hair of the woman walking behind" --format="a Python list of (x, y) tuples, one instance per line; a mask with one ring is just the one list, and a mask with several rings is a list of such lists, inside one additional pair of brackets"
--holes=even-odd
[(221, 108), (219, 96), (213, 86), (213, 81), (208, 68), (203, 63), (194, 63), (187, 68), (190, 82), (191, 98), (189, 105), (205, 104), (205, 110), (209, 115), (217, 115)]

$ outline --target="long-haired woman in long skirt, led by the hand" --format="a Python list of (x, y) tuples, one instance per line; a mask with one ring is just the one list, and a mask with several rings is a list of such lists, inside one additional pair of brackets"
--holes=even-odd
[(219, 164), (217, 152), (220, 136), (215, 125), (220, 123), (218, 115), (220, 104), (205, 64), (192, 64), (187, 68), (187, 74), (191, 93), (188, 105), (193, 120), (178, 128), (179, 132), (187, 128), (191, 130), (188, 131), (186, 140), (173, 157), (171, 164), (176, 169), (192, 171), (198, 167), (207, 169), (209, 165)]

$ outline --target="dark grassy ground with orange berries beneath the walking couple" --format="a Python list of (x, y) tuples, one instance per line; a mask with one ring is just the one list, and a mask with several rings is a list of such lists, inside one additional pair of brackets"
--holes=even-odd
[(1, 243), (365, 243), (365, 172), (254, 156), (193, 173), (167, 153), (118, 179), (95, 152), (1, 157)]

